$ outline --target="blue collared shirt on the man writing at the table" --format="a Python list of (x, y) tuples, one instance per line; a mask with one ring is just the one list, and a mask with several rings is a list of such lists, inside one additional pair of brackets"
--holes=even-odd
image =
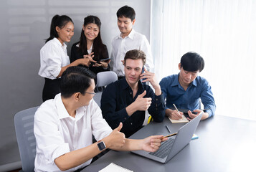
[(164, 99), (166, 98), (166, 108), (177, 108), (196, 110), (199, 109), (201, 98), (204, 109), (209, 113), (209, 117), (214, 115), (216, 105), (212, 94), (212, 87), (203, 77), (197, 76), (189, 87), (184, 90), (179, 84), (179, 75), (164, 77), (160, 82)]

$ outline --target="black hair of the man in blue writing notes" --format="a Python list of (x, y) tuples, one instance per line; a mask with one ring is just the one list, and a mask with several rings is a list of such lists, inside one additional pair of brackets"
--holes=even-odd
[(181, 67), (188, 72), (204, 70), (204, 59), (196, 52), (187, 52), (181, 57)]

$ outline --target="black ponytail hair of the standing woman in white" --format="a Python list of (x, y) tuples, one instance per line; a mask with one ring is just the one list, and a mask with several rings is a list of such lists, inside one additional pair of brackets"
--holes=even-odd
[(59, 35), (56, 31), (56, 27), (60, 27), (60, 29), (62, 29), (63, 27), (66, 26), (68, 22), (72, 22), (72, 24), (74, 24), (74, 22), (72, 21), (72, 19), (70, 19), (69, 16), (66, 16), (66, 15), (59, 16), (58, 14), (53, 16), (51, 27), (49, 29), (49, 38), (45, 40), (45, 43), (49, 42), (49, 40), (54, 39), (54, 37), (58, 38)]

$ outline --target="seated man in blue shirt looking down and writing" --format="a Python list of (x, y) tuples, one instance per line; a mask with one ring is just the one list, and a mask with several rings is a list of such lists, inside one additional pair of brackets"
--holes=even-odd
[(191, 120), (202, 112), (199, 110), (200, 99), (206, 109), (202, 120), (214, 115), (216, 105), (212, 88), (207, 80), (198, 76), (203, 69), (204, 59), (196, 52), (187, 52), (181, 57), (179, 74), (170, 75), (161, 80), (161, 90), (166, 98), (166, 116), (173, 120), (182, 118), (183, 113), (174, 110), (176, 105), (178, 109), (188, 110), (188, 119)]

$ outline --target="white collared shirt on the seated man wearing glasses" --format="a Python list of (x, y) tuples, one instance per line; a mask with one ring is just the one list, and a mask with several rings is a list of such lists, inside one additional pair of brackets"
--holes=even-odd
[[(55, 158), (93, 144), (92, 134), (96, 140), (100, 140), (111, 132), (94, 100), (78, 108), (73, 118), (67, 113), (60, 94), (56, 95), (54, 99), (44, 102), (34, 116), (34, 135), (37, 140), (35, 171), (60, 171), (54, 163)], [(76, 171), (91, 161), (67, 171)]]

